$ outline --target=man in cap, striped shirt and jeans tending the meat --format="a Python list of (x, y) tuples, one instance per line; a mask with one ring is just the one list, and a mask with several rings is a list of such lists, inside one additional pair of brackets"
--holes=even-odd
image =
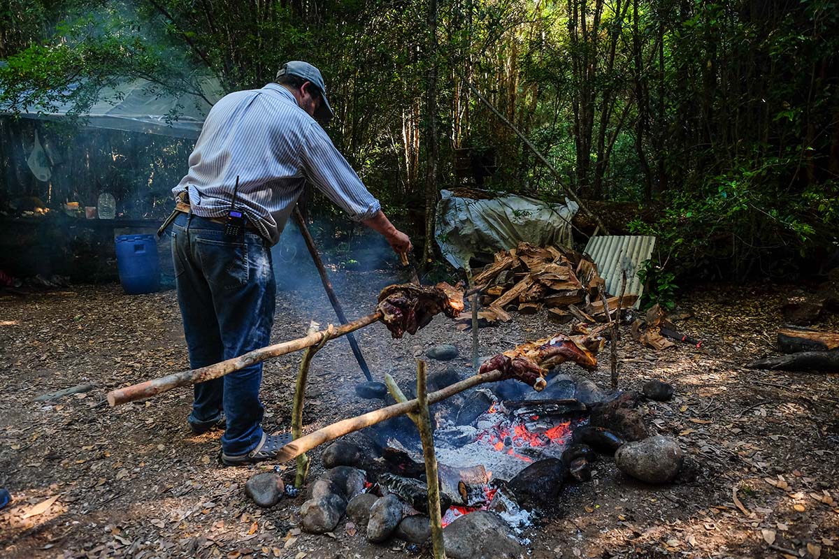
[[(391, 225), (315, 122), (315, 116), (332, 114), (320, 71), (291, 61), (276, 83), (231, 93), (207, 115), (189, 172), (172, 190), (185, 212), (175, 219), (172, 254), (192, 368), (269, 344), (275, 298), (269, 249), (306, 180), (352, 219), (378, 231), (394, 251), (410, 250), (409, 237)], [(226, 229), (226, 223), (241, 224), (240, 214), (244, 226)], [(263, 432), (261, 380), (258, 363), (195, 385), (188, 422), (195, 433), (226, 423), (226, 465), (273, 458), (291, 439)]]

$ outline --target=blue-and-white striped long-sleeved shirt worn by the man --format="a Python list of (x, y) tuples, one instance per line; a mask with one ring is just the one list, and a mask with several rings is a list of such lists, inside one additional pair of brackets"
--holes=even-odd
[(222, 97), (206, 116), (189, 163), (173, 194), (186, 190), (195, 215), (222, 217), (238, 176), (236, 208), (272, 245), (306, 180), (353, 220), (381, 207), (323, 128), (279, 84)]

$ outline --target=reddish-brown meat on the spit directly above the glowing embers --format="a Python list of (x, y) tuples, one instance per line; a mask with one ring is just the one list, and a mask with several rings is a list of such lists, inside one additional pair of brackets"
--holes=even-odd
[(478, 373), (501, 370), (508, 378), (517, 378), (534, 390), (545, 388), (545, 374), (565, 361), (573, 361), (586, 370), (597, 368), (597, 356), (604, 340), (593, 332), (580, 335), (556, 334), (551, 338), (526, 342), (484, 361)]

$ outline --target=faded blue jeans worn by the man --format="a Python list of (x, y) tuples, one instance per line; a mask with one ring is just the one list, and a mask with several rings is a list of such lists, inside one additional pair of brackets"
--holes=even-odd
[[(269, 344), (276, 289), (268, 243), (246, 230), (230, 240), (224, 225), (179, 215), (172, 225), (172, 258), (180, 314), (195, 369), (238, 357)], [(256, 448), (263, 435), (259, 401), (262, 363), (195, 385), (190, 420), (227, 417), (221, 450), (237, 456)]]

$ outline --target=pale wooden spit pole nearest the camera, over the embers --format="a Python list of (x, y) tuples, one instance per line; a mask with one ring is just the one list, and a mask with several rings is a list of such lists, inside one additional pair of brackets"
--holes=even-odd
[[(428, 395), (428, 403), (436, 404), (438, 401), (446, 400), (462, 391), (472, 388), (485, 382), (495, 382), (504, 378), (503, 372), (500, 370), (492, 370), (485, 375), (474, 375), (468, 379), (456, 382), (453, 385), (446, 386), (446, 388), (431, 392)], [(332, 423), (326, 427), (322, 427), (317, 431), (310, 432), (304, 437), (292, 441), (285, 445), (282, 451), (277, 455), (275, 461), (278, 463), (288, 462), (292, 458), (297, 458), (300, 454), (310, 451), (312, 448), (319, 447), (323, 443), (329, 443), (338, 437), (343, 437), (351, 432), (361, 431), (365, 427), (376, 425), (377, 423), (386, 421), (391, 417), (404, 416), (409, 411), (417, 411), (419, 407), (418, 401), (414, 400), (404, 401), (393, 406), (383, 407), (378, 410), (368, 411), (357, 417), (349, 417), (340, 422)]]

